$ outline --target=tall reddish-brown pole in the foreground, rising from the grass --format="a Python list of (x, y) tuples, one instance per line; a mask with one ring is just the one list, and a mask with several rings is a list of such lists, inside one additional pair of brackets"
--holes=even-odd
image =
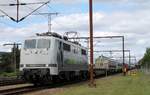
[(89, 0), (89, 27), (90, 27), (90, 87), (95, 87), (94, 84), (94, 63), (93, 63), (93, 0)]

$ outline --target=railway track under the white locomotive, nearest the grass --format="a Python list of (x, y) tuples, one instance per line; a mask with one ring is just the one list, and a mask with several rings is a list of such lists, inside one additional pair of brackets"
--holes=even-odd
[[(116, 75), (116, 74), (111, 74), (111, 75)], [(105, 75), (97, 76), (96, 79), (102, 78), (104, 76)], [(29, 85), (29, 86), (18, 87), (18, 88), (9, 88), (9, 89), (0, 90), (0, 95), (22, 95), (24, 93), (30, 93), (30, 92), (44, 90), (44, 89), (63, 87), (65, 85), (71, 85), (71, 84), (80, 83), (83, 81), (87, 81), (87, 79), (86, 80), (58, 82), (58, 83), (53, 83), (53, 84), (48, 84), (48, 85), (43, 85), (43, 86)]]

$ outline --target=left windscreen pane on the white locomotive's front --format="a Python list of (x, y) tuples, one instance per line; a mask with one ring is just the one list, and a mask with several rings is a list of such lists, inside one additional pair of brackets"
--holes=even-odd
[(25, 48), (25, 49), (33, 49), (33, 48), (36, 48), (36, 40), (35, 40), (35, 39), (32, 39), (32, 40), (25, 40), (24, 48)]

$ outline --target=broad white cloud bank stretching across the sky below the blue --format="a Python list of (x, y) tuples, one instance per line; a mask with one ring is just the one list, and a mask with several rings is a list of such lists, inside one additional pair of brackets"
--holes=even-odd
[[(58, 2), (70, 3), (69, 1), (70, 0), (62, 0)], [(99, 1), (104, 2), (104, 0)], [(112, 0), (107, 0), (107, 2), (108, 1), (111, 2)], [(114, 1), (115, 0), (112, 2)], [(79, 2), (81, 2), (81, 0), (76, 1), (76, 3)], [(148, 1), (145, 0), (116, 0), (116, 2), (148, 3)], [(94, 13), (94, 36), (125, 35), (126, 49), (131, 49), (138, 57), (141, 57), (145, 52), (145, 48), (150, 46), (148, 43), (150, 36), (149, 15), (149, 9), (145, 10), (144, 8), (135, 12), (115, 11), (112, 13), (104, 13), (96, 11)], [(80, 33), (80, 36), (88, 36), (88, 19), (88, 13), (74, 13), (58, 16), (52, 21), (52, 28), (53, 31), (60, 34), (66, 31), (77, 31)], [(31, 24), (23, 28), (1, 27), (0, 42), (22, 41), (23, 38), (34, 35), (37, 32), (47, 32), (47, 22)], [(117, 46), (119, 46), (119, 44)], [(116, 44), (111, 44), (109, 47), (116, 47)]]

